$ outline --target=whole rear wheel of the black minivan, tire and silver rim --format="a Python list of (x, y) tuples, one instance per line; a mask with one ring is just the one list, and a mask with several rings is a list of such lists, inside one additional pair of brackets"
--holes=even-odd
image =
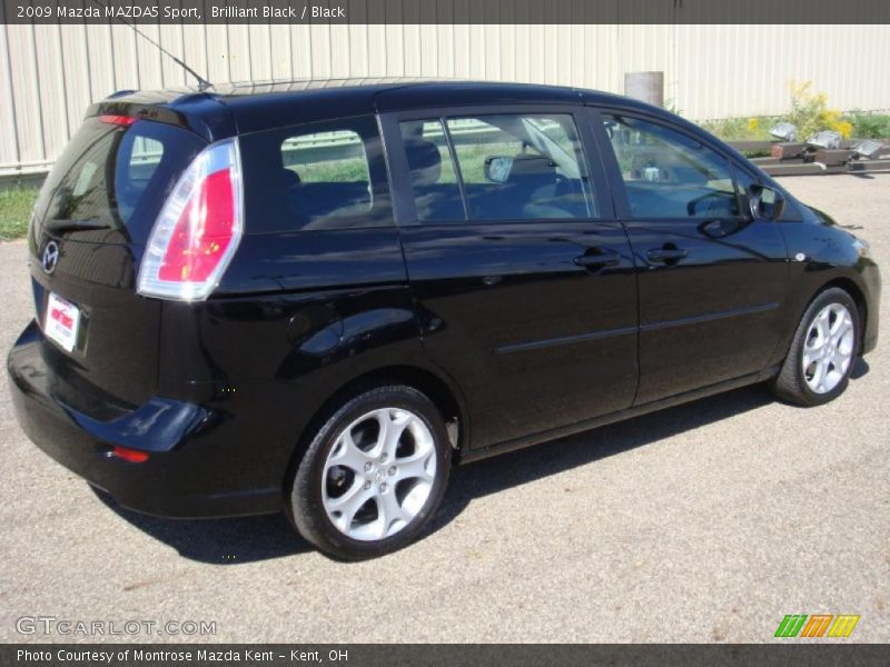
[(376, 387), (323, 420), (286, 509), (297, 531), (333, 558), (383, 556), (428, 524), (451, 460), (442, 415), (425, 395), (404, 385)]

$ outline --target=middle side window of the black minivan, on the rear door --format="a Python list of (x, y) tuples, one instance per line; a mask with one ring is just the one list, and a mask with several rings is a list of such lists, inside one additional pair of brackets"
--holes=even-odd
[(571, 116), (505, 113), (444, 123), (400, 123), (421, 220), (461, 220), (465, 210), (473, 220), (593, 215)]

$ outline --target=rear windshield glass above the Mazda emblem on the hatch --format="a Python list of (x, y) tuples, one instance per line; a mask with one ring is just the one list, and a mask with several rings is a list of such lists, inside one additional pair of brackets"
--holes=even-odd
[(88, 119), (56, 161), (37, 206), (43, 228), (144, 243), (179, 175), (206, 146), (174, 126)]

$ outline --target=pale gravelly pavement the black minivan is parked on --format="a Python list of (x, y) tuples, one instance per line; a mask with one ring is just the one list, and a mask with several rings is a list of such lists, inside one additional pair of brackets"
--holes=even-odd
[[(890, 175), (784, 182), (887, 273)], [(31, 317), (24, 261), (0, 243), (2, 350)], [(850, 640), (888, 641), (889, 365), (884, 342), (818, 409), (753, 387), (457, 469), (431, 535), (357, 565), (280, 516), (115, 508), (26, 439), (1, 382), (0, 640), (89, 639), (17, 633), (46, 615), (221, 641), (768, 641), (785, 614), (846, 613)]]

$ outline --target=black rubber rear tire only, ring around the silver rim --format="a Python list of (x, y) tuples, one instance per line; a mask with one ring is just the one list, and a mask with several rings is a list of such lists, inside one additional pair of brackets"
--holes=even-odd
[[(343, 429), (373, 410), (389, 407), (409, 410), (419, 417), (433, 435), (436, 475), (423, 509), (397, 534), (380, 540), (353, 539), (337, 529), (327, 516), (323, 501), (324, 468), (328, 454)], [(426, 396), (406, 386), (386, 386), (348, 400), (325, 421), (300, 461), (290, 492), (290, 512), (297, 530), (324, 552), (344, 560), (382, 556), (408, 545), (423, 531), (438, 508), (451, 469), (452, 447), (445, 425), (435, 405)]]

